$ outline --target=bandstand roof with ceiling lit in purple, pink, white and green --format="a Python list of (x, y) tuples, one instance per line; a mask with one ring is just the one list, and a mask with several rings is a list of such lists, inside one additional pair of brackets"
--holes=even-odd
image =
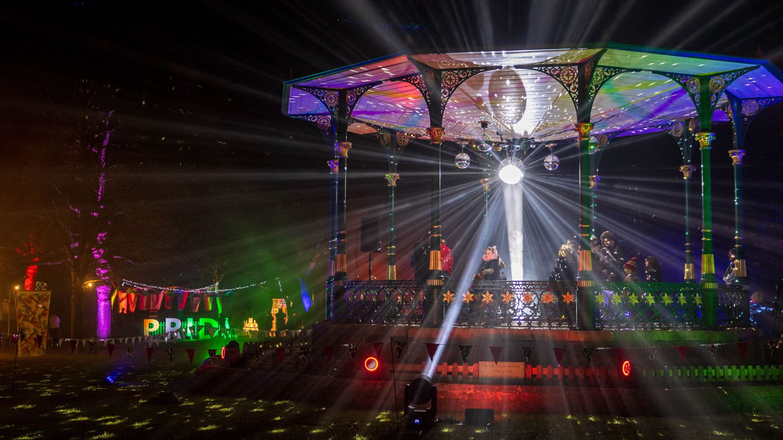
[[(444, 70), (493, 68), (468, 78), (453, 92), (443, 115), (445, 139), (476, 138), (482, 132), (479, 121), (489, 121), (491, 132), (501, 132), (506, 138), (523, 132), (539, 141), (573, 138), (576, 110), (568, 92), (554, 78), (529, 67), (577, 63), (601, 50), (605, 52), (597, 67), (638, 71), (612, 77), (597, 93), (591, 112), (593, 134), (651, 132), (655, 125), (695, 117), (694, 104), (684, 88), (660, 72), (714, 74), (756, 67), (734, 80), (726, 92), (741, 99), (783, 96), (783, 73), (769, 61), (607, 43), (577, 49), (396, 54), (287, 81), (283, 113), (291, 117), (329, 114), (316, 96), (301, 87), (345, 89), (374, 84), (355, 104), (355, 122), (349, 131), (366, 134), (375, 132), (373, 127), (384, 127), (424, 135), (430, 124), (424, 98), (409, 82), (395, 81), (418, 73), (415, 60)], [(719, 108), (726, 101), (724, 93)], [(716, 110), (713, 121), (727, 121), (727, 116)]]

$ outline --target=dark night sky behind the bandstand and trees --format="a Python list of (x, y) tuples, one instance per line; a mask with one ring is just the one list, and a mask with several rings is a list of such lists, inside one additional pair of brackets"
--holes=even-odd
[[(315, 128), (280, 113), (283, 81), (394, 52), (586, 41), (760, 57), (783, 66), (781, 10), (778, 2), (723, 1), (6, 3), (0, 9), (2, 215), (36, 209), (13, 177), (26, 172), (26, 164), (61, 171), (47, 164), (47, 152), (62, 142), (62, 121), (76, 111), (78, 81), (111, 83), (121, 88), (118, 139), (127, 142), (117, 153), (123, 165), (117, 179), (132, 182), (117, 200), (143, 205), (176, 243), (153, 265), (128, 268), (128, 276), (198, 283), (203, 271), (194, 267), (225, 257), (233, 280), (242, 283), (269, 275), (258, 269), (259, 261), (272, 258), (283, 270), (293, 269), (312, 258), (314, 243), (326, 246), (327, 145)], [(733, 232), (725, 153), (731, 142), (727, 127), (716, 132), (716, 233), (723, 236), (716, 260), (722, 272)], [(756, 119), (747, 140), (749, 259), (752, 270), (763, 272), (753, 288), (768, 291), (783, 272), (781, 133), (783, 113), (772, 108)], [(617, 149), (622, 153), (606, 154), (601, 174), (607, 190), (655, 188), (651, 182), (662, 170), (680, 161), (673, 147), (668, 156), (661, 153), (662, 136), (622, 141), (627, 143), (618, 146), (628, 146)], [(352, 140), (359, 183), (352, 207), (358, 210), (378, 193), (374, 203), (382, 204), (382, 178), (360, 173), (383, 172), (383, 159), (368, 153), (370, 140)], [(417, 167), (413, 160), (409, 165)], [(572, 166), (565, 160), (563, 172)], [(666, 179), (671, 186), (681, 182), (676, 175)], [(671, 240), (679, 253), (681, 241)], [(754, 249), (753, 243), (760, 244)], [(672, 270), (679, 272), (674, 262)], [(16, 280), (2, 276), (4, 283)]]

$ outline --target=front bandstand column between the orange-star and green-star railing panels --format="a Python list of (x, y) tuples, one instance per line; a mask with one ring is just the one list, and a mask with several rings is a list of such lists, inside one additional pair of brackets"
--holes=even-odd
[(593, 257), (590, 253), (590, 131), (593, 124), (575, 125), (579, 133), (579, 273), (576, 280), (576, 326), (595, 330), (595, 301), (592, 279)]

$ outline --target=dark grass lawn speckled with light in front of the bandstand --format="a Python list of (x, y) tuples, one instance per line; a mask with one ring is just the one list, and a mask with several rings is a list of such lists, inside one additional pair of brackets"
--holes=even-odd
[[(183, 349), (152, 362), (138, 347), (128, 359), (104, 351), (20, 359), (10, 395), (13, 352), (0, 352), (0, 438), (395, 438), (394, 409), (334, 409), (290, 401), (197, 395), (188, 391), (203, 356), (189, 364)], [(111, 374), (116, 383), (99, 384)], [(173, 390), (179, 405), (155, 401)], [(511, 414), (485, 428), (438, 425), (428, 438), (781, 438), (783, 387), (693, 388), (681, 415)], [(657, 396), (666, 402), (666, 396)], [(681, 399), (677, 405), (682, 405)], [(673, 408), (674, 413), (680, 413)], [(445, 416), (446, 414), (439, 414)], [(461, 419), (463, 414), (453, 414)], [(405, 435), (418, 437), (418, 435)]]

